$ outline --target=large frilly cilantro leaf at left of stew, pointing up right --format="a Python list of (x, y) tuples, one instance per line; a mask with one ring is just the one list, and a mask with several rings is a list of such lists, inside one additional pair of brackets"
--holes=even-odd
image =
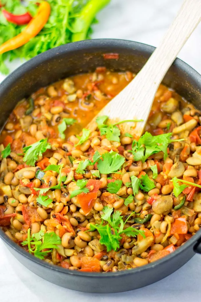
[(39, 140), (30, 146), (24, 147), (24, 162), (27, 165), (33, 166), (39, 156), (42, 156), (47, 149), (51, 149), (51, 145), (48, 143), (47, 138), (44, 140)]

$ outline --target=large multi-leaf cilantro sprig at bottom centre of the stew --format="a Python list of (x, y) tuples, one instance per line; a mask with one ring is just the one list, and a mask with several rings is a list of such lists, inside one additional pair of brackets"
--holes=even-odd
[[(107, 248), (107, 252), (113, 250), (117, 250), (120, 248), (119, 241), (121, 240), (121, 234), (125, 234), (128, 237), (135, 237), (137, 235), (142, 235), (145, 237), (144, 232), (141, 230), (137, 230), (131, 226), (127, 227), (124, 230), (124, 226), (127, 223), (127, 221), (130, 219), (130, 217), (133, 215), (131, 213), (129, 217), (126, 219), (126, 221), (123, 221), (123, 216), (121, 216), (120, 211), (116, 211), (112, 214), (113, 208), (104, 207), (102, 210), (103, 214), (101, 215), (102, 223), (93, 225), (90, 224), (90, 231), (97, 230), (100, 234), (100, 243), (104, 244)], [(107, 224), (103, 224), (104, 221), (107, 221)], [(114, 229), (114, 232), (112, 231), (111, 227)]]

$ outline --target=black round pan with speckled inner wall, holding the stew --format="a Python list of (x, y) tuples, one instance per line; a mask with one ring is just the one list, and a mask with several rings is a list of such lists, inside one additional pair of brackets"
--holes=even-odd
[[(36, 56), (17, 68), (0, 84), (2, 127), (17, 102), (42, 86), (97, 66), (137, 73), (154, 47), (126, 40), (87, 40), (63, 45)], [(104, 53), (119, 53), (119, 59), (105, 60)], [(176, 59), (163, 83), (201, 109), (201, 76), (189, 65)], [(201, 253), (201, 230), (183, 246), (165, 258), (127, 271), (87, 273), (70, 271), (35, 258), (11, 241), (0, 228), (0, 237), (10, 252), (36, 275), (63, 287), (91, 293), (129, 291), (154, 283), (176, 271), (194, 252)]]

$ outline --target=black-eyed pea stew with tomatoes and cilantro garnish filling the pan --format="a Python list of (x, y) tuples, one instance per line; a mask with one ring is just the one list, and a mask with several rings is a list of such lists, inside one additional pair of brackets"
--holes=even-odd
[(133, 77), (99, 67), (39, 89), (8, 118), (0, 226), (35, 257), (115, 272), (161, 259), (199, 230), (199, 110), (160, 85), (142, 137), (107, 116), (85, 128)]

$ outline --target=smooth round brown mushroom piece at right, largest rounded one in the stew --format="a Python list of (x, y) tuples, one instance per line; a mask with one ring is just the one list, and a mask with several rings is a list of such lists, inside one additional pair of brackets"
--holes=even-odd
[(164, 195), (158, 198), (153, 204), (152, 204), (152, 210), (156, 214), (168, 214), (173, 206), (173, 200), (171, 196)]

